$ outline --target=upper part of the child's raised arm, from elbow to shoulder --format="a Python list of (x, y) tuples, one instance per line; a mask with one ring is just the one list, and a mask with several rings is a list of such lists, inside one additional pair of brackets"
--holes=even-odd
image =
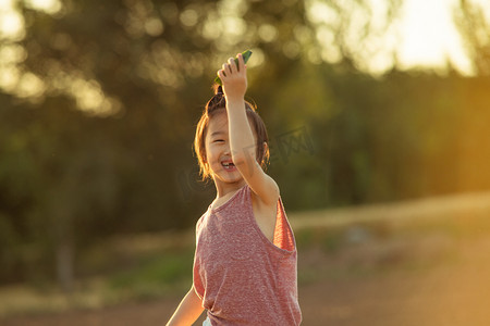
[[(233, 159), (233, 161), (235, 161), (235, 159)], [(278, 202), (278, 184), (264, 172), (255, 159), (248, 158), (247, 162), (246, 158), (237, 158), (235, 166), (238, 168), (252, 191), (254, 191), (264, 203), (272, 205)]]

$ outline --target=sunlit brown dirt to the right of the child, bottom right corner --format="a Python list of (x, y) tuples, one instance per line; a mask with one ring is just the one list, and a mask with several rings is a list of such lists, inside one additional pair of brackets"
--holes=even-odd
[(460, 253), (428, 271), (304, 287), (304, 325), (490, 325), (490, 238), (465, 243)]

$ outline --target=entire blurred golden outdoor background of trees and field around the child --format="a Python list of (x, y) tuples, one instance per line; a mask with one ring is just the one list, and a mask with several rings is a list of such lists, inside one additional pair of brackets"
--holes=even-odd
[(487, 325), (487, 1), (1, 0), (2, 325), (166, 323), (216, 196), (195, 127), (246, 49), (304, 324)]

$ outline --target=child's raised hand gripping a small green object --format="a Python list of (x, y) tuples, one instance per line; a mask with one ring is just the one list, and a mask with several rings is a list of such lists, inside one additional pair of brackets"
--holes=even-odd
[(223, 83), (226, 101), (243, 100), (247, 90), (247, 67), (242, 53), (238, 53), (236, 58), (238, 59), (238, 66), (236, 66), (235, 60), (230, 58), (228, 63), (223, 63), (223, 67), (218, 71), (218, 76)]

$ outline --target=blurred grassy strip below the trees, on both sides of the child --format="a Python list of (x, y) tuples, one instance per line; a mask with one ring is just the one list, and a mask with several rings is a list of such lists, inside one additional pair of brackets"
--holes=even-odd
[[(425, 273), (451, 264), (457, 261), (461, 241), (490, 235), (490, 204), (483, 203), (478, 210), (473, 201), (449, 210), (448, 201), (438, 200), (290, 214), (299, 251), (299, 287), (324, 279)], [(324, 223), (329, 214), (333, 223)], [(70, 296), (53, 285), (0, 288), (0, 317), (100, 309), (184, 293), (192, 284), (193, 255), (191, 231), (113, 239), (79, 258), (83, 277)]]

